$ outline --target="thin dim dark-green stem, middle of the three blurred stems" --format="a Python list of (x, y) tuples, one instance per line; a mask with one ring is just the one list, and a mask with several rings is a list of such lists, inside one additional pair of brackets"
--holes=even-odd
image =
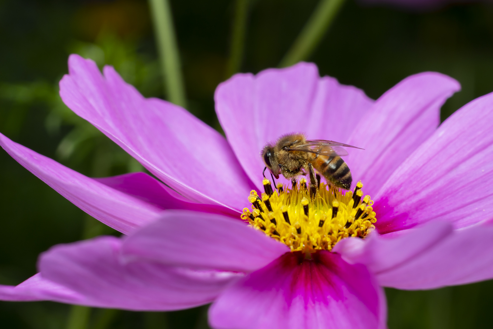
[(235, 1), (229, 59), (226, 67), (226, 78), (241, 70), (243, 51), (245, 48), (246, 20), (248, 16), (249, 0)]

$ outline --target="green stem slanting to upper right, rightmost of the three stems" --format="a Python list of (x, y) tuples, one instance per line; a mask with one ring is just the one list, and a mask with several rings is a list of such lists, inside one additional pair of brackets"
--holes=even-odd
[(282, 68), (291, 66), (309, 58), (343, 3), (344, 0), (320, 0), (303, 30), (282, 58), (279, 66)]

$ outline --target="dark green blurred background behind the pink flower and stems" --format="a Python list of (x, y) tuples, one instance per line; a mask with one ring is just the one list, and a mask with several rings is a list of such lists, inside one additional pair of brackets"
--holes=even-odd
[[(228, 69), (232, 20), (241, 0), (172, 0), (187, 109), (220, 131), (213, 92)], [(276, 67), (317, 0), (249, 0), (243, 61), (233, 71)], [(142, 170), (70, 112), (58, 96), (67, 58), (113, 65), (146, 96), (167, 98), (145, 0), (0, 0), (0, 132), (85, 175)], [(453, 5), (428, 13), (348, 0), (310, 57), (320, 74), (378, 98), (409, 74), (438, 71), (462, 91), (446, 118), (493, 91), (493, 6)], [(117, 232), (88, 217), (0, 151), (0, 284), (35, 274), (39, 253), (58, 243)], [(493, 328), (493, 282), (404, 292), (388, 289), (388, 327)], [(0, 302), (1, 328), (157, 329), (207, 327), (207, 307), (151, 313)], [(83, 320), (86, 319), (87, 321)]]

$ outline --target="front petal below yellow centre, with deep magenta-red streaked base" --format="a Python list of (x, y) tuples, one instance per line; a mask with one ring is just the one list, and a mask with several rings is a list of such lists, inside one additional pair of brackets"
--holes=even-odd
[(363, 265), (319, 252), (287, 253), (225, 290), (209, 310), (216, 329), (386, 328), (385, 294)]

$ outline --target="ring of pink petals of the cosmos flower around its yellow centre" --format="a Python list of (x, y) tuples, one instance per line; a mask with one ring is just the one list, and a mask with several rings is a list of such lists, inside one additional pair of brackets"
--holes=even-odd
[[(0, 299), (130, 310), (212, 302), (217, 329), (370, 329), (386, 328), (381, 287), (433, 289), (493, 277), (493, 94), (438, 126), (440, 107), (459, 89), (446, 75), (410, 76), (373, 101), (300, 63), (219, 85), (225, 139), (186, 110), (143, 98), (111, 67), (102, 75), (72, 55), (69, 72), (60, 82), (69, 108), (164, 184), (144, 173), (88, 178), (0, 135), (24, 167), (126, 234), (53, 247), (40, 256), (38, 274), (0, 286)], [(291, 252), (270, 237), (282, 217), (269, 217), (265, 232), (239, 220), (250, 190), (262, 190), (261, 147), (299, 131), (365, 148), (345, 158), (374, 200), (374, 213), (368, 198), (355, 203), (376, 214), (365, 239), (346, 234), (331, 251)], [(359, 220), (348, 193), (347, 215)], [(334, 204), (327, 207), (334, 214)]]

